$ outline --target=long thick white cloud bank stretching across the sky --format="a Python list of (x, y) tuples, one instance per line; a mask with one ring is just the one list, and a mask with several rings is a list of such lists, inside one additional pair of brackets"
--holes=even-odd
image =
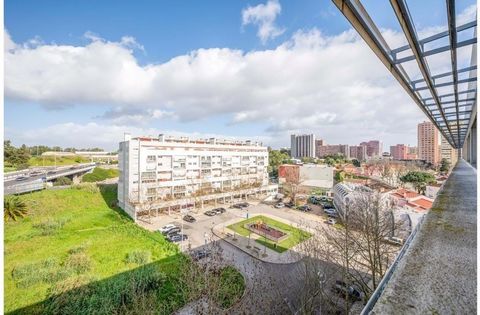
[[(401, 45), (399, 33), (383, 32), (389, 43)], [(222, 115), (232, 124), (263, 126), (272, 146), (287, 145), (290, 132), (316, 133), (329, 143), (377, 138), (414, 144), (416, 124), (425, 119), (353, 30), (335, 36), (298, 31), (274, 49), (198, 49), (147, 65), (135, 58), (140, 45), (129, 37), (112, 42), (91, 35), (84, 46), (29, 46), (6, 33), (5, 47), (7, 100), (106, 104), (111, 109), (101, 123), (119, 135), (123, 126), (155, 119), (181, 124)], [(469, 58), (459, 52), (459, 62)], [(443, 58), (430, 68), (439, 73), (449, 65)]]

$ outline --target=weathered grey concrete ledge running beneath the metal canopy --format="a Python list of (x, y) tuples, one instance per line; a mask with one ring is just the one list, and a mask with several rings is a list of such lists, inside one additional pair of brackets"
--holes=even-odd
[(477, 174), (461, 160), (373, 314), (476, 314)]

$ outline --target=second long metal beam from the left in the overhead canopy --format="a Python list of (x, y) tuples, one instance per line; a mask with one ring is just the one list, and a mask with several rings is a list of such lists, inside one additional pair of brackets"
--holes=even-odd
[[(390, 0), (390, 4), (393, 7), (393, 11), (395, 11), (395, 14), (397, 16), (397, 19), (400, 23), (400, 26), (403, 29), (403, 33), (405, 34), (405, 37), (407, 38), (408, 43), (410, 44), (410, 48), (412, 49), (413, 55), (415, 56), (415, 59), (418, 64), (418, 68), (420, 69), (420, 72), (422, 73), (422, 76), (425, 80), (425, 83), (428, 86), (428, 89), (430, 91), (430, 94), (432, 94), (432, 97), (437, 104), (437, 107), (442, 115), (443, 120), (446, 122), (447, 118), (445, 117), (445, 114), (443, 112), (441, 103), (440, 103), (440, 98), (438, 97), (437, 91), (435, 89), (435, 86), (433, 84), (433, 80), (430, 74), (430, 70), (428, 69), (428, 65), (425, 61), (425, 59), (422, 56), (422, 50), (420, 48), (420, 43), (418, 42), (417, 39), (417, 34), (415, 31), (415, 28), (413, 26), (412, 19), (410, 18), (410, 12), (408, 12), (407, 4), (405, 3), (404, 0)], [(453, 139), (452, 135), (452, 130), (450, 129), (450, 126), (447, 125), (448, 132), (452, 136), (451, 139), (453, 140), (454, 143), (450, 143), (453, 147), (460, 147), (460, 143), (456, 143), (455, 139)]]

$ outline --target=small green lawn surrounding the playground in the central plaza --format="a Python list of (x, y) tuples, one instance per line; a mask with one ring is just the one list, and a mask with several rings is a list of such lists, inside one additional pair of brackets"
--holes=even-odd
[(288, 250), (289, 248), (297, 245), (298, 243), (300, 243), (300, 242), (302, 242), (302, 241), (304, 241), (304, 240), (306, 240), (306, 239), (308, 239), (312, 236), (312, 234), (307, 232), (307, 231), (297, 229), (297, 228), (295, 228), (291, 225), (279, 222), (277, 220), (274, 220), (272, 218), (269, 218), (269, 217), (266, 217), (266, 216), (263, 216), (263, 215), (254, 216), (254, 217), (251, 217), (249, 219), (246, 219), (246, 220), (237, 222), (235, 224), (229, 225), (227, 227), (229, 229), (235, 231), (236, 233), (242, 235), (242, 236), (248, 237), (248, 234), (250, 233), (250, 231), (247, 230), (246, 228), (244, 228), (244, 225), (247, 224), (247, 223), (255, 222), (255, 221), (262, 221), (264, 223), (267, 223), (270, 226), (278, 228), (278, 229), (282, 230), (283, 232), (286, 232), (286, 233), (289, 234), (289, 237), (287, 239), (281, 241), (280, 243), (278, 243), (277, 246), (275, 246), (275, 242), (273, 242), (269, 239), (267, 239), (265, 241), (265, 239), (263, 237), (255, 240), (257, 243), (259, 243), (261, 245), (266, 245), (268, 248), (273, 249), (274, 251), (276, 251), (278, 253), (283, 253), (284, 251)]

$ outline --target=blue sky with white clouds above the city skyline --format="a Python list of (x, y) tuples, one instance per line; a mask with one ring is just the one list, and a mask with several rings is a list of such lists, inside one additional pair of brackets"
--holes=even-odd
[[(401, 41), (389, 4), (364, 2)], [(443, 3), (408, 3), (417, 29), (444, 24)], [(123, 132), (165, 132), (280, 147), (312, 132), (386, 147), (415, 144), (423, 119), (331, 1), (6, 0), (5, 29), (17, 145), (111, 150)]]

